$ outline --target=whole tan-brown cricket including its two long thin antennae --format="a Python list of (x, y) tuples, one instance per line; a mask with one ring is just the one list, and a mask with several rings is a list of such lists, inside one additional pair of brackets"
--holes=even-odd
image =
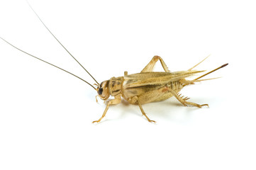
[[(30, 6), (30, 4), (28, 5)], [(30, 8), (33, 10), (31, 6)], [(35, 13), (34, 10), (33, 12)], [(38, 14), (35, 13), (35, 15), (38, 17), (40, 22), (43, 23), (43, 21), (40, 19)], [(45, 26), (45, 23), (43, 23), (43, 26)], [(87, 69), (85, 69), (82, 66), (82, 64), (80, 64), (78, 60), (67, 50), (67, 48), (64, 47), (64, 45), (62, 45), (62, 43), (55, 37), (55, 35), (52, 34), (52, 32), (48, 29), (48, 27), (45, 26), (45, 28), (50, 32), (53, 38), (55, 38), (55, 40), (57, 40), (57, 42), (59, 42), (59, 44), (69, 53), (69, 55), (87, 72), (87, 74), (89, 74), (89, 76), (92, 79), (94, 79), (94, 77), (91, 76), (91, 74), (87, 71)], [(56, 67), (57, 69), (61, 69), (62, 71), (67, 72), (68, 74), (71, 74), (72, 76), (77, 77), (78, 79), (81, 79), (82, 81), (87, 83), (89, 86), (91, 86), (97, 93), (96, 102), (98, 102), (97, 101), (98, 96), (99, 98), (101, 98), (101, 100), (106, 101), (106, 108), (104, 110), (104, 113), (101, 115), (99, 120), (95, 120), (92, 123), (101, 122), (101, 120), (106, 116), (108, 108), (112, 105), (121, 103), (121, 100), (122, 100), (121, 98), (128, 101), (128, 103), (130, 104), (138, 105), (141, 113), (145, 116), (145, 118), (150, 123), (156, 123), (156, 122), (155, 120), (151, 120), (150, 118), (148, 118), (148, 115), (143, 110), (143, 104), (145, 103), (165, 101), (167, 98), (171, 98), (172, 96), (174, 96), (174, 98), (177, 98), (177, 100), (180, 103), (182, 103), (183, 106), (195, 106), (198, 108), (201, 108), (203, 106), (208, 107), (208, 104), (197, 104), (189, 101), (188, 97), (182, 96), (182, 94), (180, 94), (179, 92), (184, 88), (184, 86), (189, 86), (199, 81), (210, 80), (210, 79), (201, 79), (201, 78), (228, 65), (228, 63), (223, 64), (221, 65), (221, 67), (217, 67), (216, 69), (213, 69), (210, 72), (206, 72), (205, 74), (202, 74), (196, 79), (188, 79), (189, 77), (192, 77), (192, 76), (194, 77), (199, 73), (205, 72), (205, 70), (198, 71), (198, 70), (194, 70), (194, 68), (199, 64), (201, 64), (201, 62), (206, 60), (207, 57), (201, 62), (199, 62), (198, 64), (194, 65), (194, 67), (191, 67), (190, 69), (187, 69), (185, 71), (179, 71), (179, 72), (170, 72), (164, 60), (162, 60), (160, 56), (155, 55), (154, 57), (152, 57), (152, 60), (150, 60), (150, 62), (144, 67), (144, 69), (140, 73), (128, 74), (128, 72), (126, 71), (124, 72), (124, 75), (121, 77), (112, 77), (111, 79), (102, 81), (100, 84), (98, 83), (98, 81), (96, 81), (96, 79), (94, 79), (95, 84), (89, 84), (88, 81), (85, 81), (84, 79), (78, 77), (77, 75), (74, 75), (65, 69), (57, 67), (56, 65), (51, 64), (50, 62), (46, 62), (45, 60), (42, 60), (38, 57), (35, 57), (34, 55), (31, 55), (28, 52), (21, 50), (20, 48), (11, 44), (4, 38), (1, 38), (1, 40), (4, 40), (4, 42), (16, 48), (16, 50), (26, 53), (26, 55), (29, 55), (30, 57), (34, 57), (35, 59), (40, 60), (41, 62), (50, 64), (53, 67)], [(153, 72), (154, 66), (158, 61), (162, 64), (162, 68), (165, 70), (165, 72)], [(217, 79), (217, 78), (211, 78), (211, 79)], [(112, 96), (113, 99), (108, 100), (110, 96)]]

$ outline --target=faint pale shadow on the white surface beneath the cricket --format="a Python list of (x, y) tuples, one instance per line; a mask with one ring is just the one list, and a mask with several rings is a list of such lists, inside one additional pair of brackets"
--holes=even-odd
[[(194, 98), (189, 101), (204, 104), (208, 103), (208, 101), (213, 101), (214, 98)], [(204, 101), (204, 102), (203, 102)], [(207, 102), (205, 102), (207, 101)], [(210, 103), (211, 104), (211, 103)], [(209, 104), (209, 105), (210, 105)], [(143, 109), (145, 113), (151, 120), (155, 120), (156, 122), (159, 120), (169, 120), (169, 121), (176, 121), (176, 122), (186, 122), (191, 120), (194, 113), (199, 111), (199, 109), (206, 109), (207, 107), (197, 108), (194, 106), (184, 107), (176, 98), (169, 98), (166, 101), (154, 102), (154, 103), (147, 103), (143, 105)], [(115, 112), (118, 113), (115, 117), (116, 118), (109, 118), (109, 113)], [(111, 106), (108, 109), (108, 113), (106, 114), (106, 118), (104, 118), (101, 123), (106, 123), (111, 121), (112, 119), (125, 119), (130, 114), (137, 115), (138, 118), (143, 118), (144, 120), (148, 121), (140, 111), (138, 105), (132, 105), (128, 103), (128, 101), (123, 100), (120, 104)], [(99, 124), (99, 123), (95, 123)], [(153, 123), (154, 124), (154, 123)]]

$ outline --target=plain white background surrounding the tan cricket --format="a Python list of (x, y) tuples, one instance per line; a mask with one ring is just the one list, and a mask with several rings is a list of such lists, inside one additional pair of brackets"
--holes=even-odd
[[(83, 81), (0, 40), (0, 169), (256, 169), (253, 1), (33, 1), (98, 81), (137, 73), (154, 55), (171, 71), (229, 63), (175, 98), (123, 101), (106, 118)], [(0, 36), (94, 84), (26, 1), (0, 1)], [(160, 64), (156, 70), (162, 71)]]

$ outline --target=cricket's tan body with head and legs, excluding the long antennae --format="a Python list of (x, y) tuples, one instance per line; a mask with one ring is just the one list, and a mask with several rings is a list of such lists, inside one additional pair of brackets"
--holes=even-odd
[[(160, 60), (165, 72), (152, 72), (157, 60)], [(221, 69), (226, 65), (228, 64), (224, 64), (217, 69)], [(179, 91), (182, 90), (184, 86), (194, 84), (196, 81), (204, 81), (206, 79), (199, 79), (217, 70), (214, 69), (213, 71), (208, 72), (194, 80), (187, 80), (187, 77), (191, 77), (199, 72), (204, 72), (192, 70), (193, 68), (194, 67), (187, 71), (169, 72), (162, 58), (156, 55), (138, 74), (128, 75), (127, 72), (125, 72), (124, 77), (113, 77), (107, 81), (103, 81), (96, 89), (99, 97), (104, 101), (106, 101), (109, 96), (114, 96), (114, 99), (107, 103), (101, 118), (93, 123), (99, 123), (101, 119), (104, 118), (109, 106), (120, 103), (121, 96), (130, 104), (138, 105), (140, 107), (140, 111), (143, 113), (143, 115), (145, 115), (145, 118), (147, 118), (149, 122), (154, 123), (155, 121), (150, 120), (150, 118), (148, 118), (148, 116), (145, 114), (145, 111), (142, 108), (143, 104), (155, 101), (164, 101), (167, 98), (174, 96), (184, 106), (191, 105), (199, 108), (202, 106), (208, 106), (208, 104), (199, 105), (197, 103), (187, 101), (189, 99), (188, 97), (184, 97), (179, 94)]]

